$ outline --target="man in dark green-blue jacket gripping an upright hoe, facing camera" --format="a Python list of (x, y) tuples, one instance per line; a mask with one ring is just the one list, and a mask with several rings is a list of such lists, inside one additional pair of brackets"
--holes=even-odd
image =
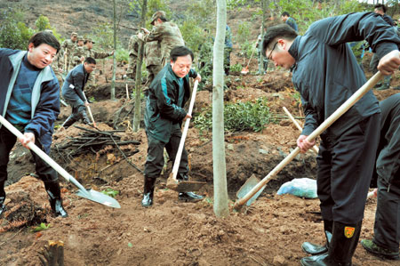
[[(190, 97), (189, 77), (201, 81), (200, 75), (190, 69), (193, 52), (185, 46), (177, 46), (170, 52), (170, 63), (157, 74), (148, 89), (145, 112), (146, 134), (148, 136), (148, 157), (144, 170), (144, 191), (141, 205), (153, 205), (156, 178), (164, 166), (164, 148), (172, 162), (175, 160), (182, 133), (182, 121), (191, 118), (183, 109)], [(182, 151), (178, 180), (188, 180), (188, 153)], [(180, 200), (198, 201), (203, 199), (193, 192), (180, 192)]]

